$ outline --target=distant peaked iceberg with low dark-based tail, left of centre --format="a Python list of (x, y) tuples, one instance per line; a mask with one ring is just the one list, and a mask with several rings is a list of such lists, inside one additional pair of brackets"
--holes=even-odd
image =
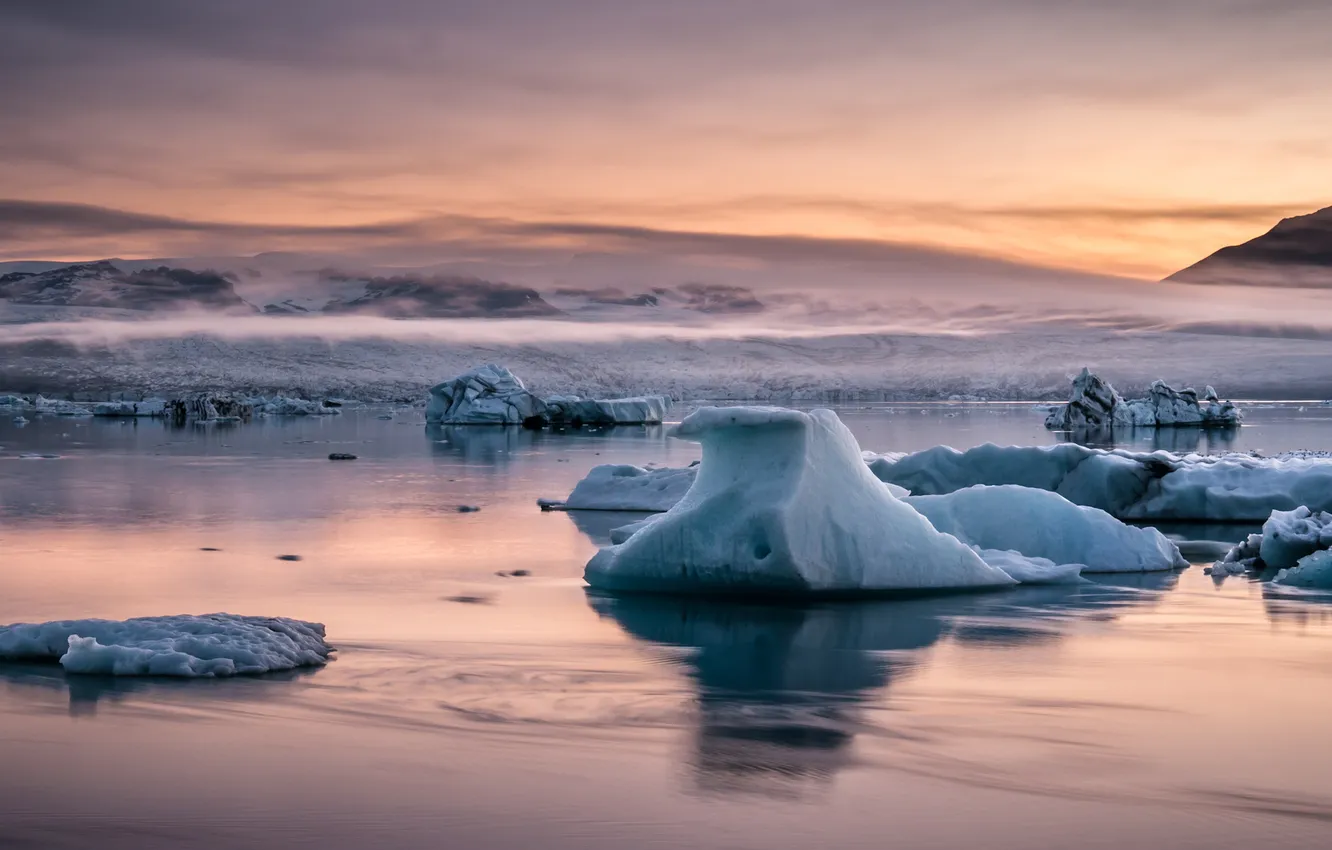
[(662, 396), (542, 398), (505, 366), (486, 364), (432, 386), (425, 418), (442, 425), (642, 425), (661, 422), (669, 405)]

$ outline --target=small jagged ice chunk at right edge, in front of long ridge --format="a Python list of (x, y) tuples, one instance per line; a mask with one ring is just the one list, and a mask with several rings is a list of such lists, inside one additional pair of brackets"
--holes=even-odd
[(1249, 534), (1208, 570), (1212, 576), (1280, 570), (1280, 585), (1332, 590), (1332, 513), (1273, 510), (1263, 532)]

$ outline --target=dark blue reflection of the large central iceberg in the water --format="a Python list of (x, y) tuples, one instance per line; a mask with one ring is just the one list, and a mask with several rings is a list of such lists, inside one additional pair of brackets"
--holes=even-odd
[[(855, 762), (866, 703), (928, 662), (940, 641), (1059, 641), (1175, 586), (1175, 573), (1115, 584), (814, 606), (587, 593), (589, 605), (671, 655), (697, 691), (689, 763), (698, 790), (801, 795)], [(891, 690), (890, 690), (891, 693)], [(879, 733), (891, 730), (878, 729)]]

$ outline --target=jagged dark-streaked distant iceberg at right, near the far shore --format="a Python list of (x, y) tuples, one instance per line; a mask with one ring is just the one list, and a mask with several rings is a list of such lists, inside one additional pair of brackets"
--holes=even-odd
[(1068, 404), (1055, 408), (1046, 417), (1046, 428), (1055, 430), (1102, 430), (1119, 428), (1163, 428), (1175, 425), (1237, 425), (1243, 416), (1228, 401), (1220, 401), (1208, 386), (1199, 401), (1197, 390), (1177, 390), (1164, 381), (1155, 381), (1147, 398), (1124, 401), (1107, 381), (1083, 369), (1074, 378)]

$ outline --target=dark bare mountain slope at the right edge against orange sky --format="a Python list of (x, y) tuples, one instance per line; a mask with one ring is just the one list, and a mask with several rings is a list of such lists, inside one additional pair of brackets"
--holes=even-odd
[(1332, 207), (1283, 218), (1243, 245), (1221, 248), (1166, 278), (1179, 284), (1332, 288)]

